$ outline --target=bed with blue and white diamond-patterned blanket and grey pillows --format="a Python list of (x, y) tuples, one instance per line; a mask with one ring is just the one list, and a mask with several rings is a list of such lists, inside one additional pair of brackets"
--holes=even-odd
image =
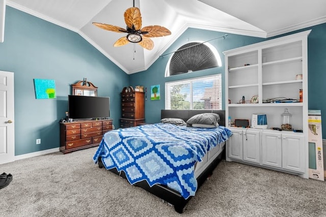
[(159, 123), (107, 132), (93, 160), (182, 213), (224, 157), (231, 134), (224, 110), (161, 110)]

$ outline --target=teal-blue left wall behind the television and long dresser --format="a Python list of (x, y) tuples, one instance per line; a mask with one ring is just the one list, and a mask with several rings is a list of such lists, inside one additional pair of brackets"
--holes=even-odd
[[(70, 85), (83, 78), (98, 87), (98, 96), (110, 97), (111, 118), (119, 125), (120, 91), (128, 75), (70, 30), (7, 6), (0, 70), (14, 72), (15, 155), (60, 146), (59, 120)], [(54, 79), (57, 99), (36, 100), (34, 78)]]

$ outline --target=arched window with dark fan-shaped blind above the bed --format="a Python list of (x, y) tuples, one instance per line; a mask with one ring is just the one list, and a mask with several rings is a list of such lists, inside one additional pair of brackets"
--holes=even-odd
[(216, 58), (218, 52), (213, 48), (215, 54), (211, 47), (200, 42), (191, 42), (181, 46), (169, 61), (166, 77), (219, 67), (219, 56)]

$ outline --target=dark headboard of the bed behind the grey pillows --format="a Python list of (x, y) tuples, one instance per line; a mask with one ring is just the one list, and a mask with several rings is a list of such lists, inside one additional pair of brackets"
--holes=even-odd
[(162, 109), (161, 110), (161, 119), (162, 118), (181, 118), (184, 121), (187, 121), (189, 118), (196, 114), (202, 113), (216, 113), (220, 115), (219, 125), (225, 126), (225, 110), (174, 110), (174, 109)]

